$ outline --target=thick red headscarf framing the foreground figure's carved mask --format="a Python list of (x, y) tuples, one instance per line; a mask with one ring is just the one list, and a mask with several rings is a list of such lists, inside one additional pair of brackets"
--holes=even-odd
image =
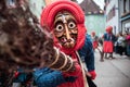
[[(77, 37), (76, 46), (72, 49), (67, 49), (64, 47), (61, 48), (62, 51), (64, 51), (67, 54), (70, 54), (72, 52), (81, 48), (84, 44), (86, 30), (87, 30), (84, 27), (84, 13), (81, 10), (81, 8), (75, 2), (68, 0), (58, 0), (50, 5), (47, 5), (43, 9), (41, 14), (41, 26), (46, 26), (49, 32), (53, 32), (54, 17), (61, 11), (70, 12), (75, 16), (77, 22), (78, 37)], [(57, 47), (57, 39), (55, 37), (54, 37), (54, 44)]]

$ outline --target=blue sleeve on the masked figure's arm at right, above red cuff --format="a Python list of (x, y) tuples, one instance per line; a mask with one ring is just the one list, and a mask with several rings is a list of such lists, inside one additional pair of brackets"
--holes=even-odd
[(94, 71), (94, 52), (91, 38), (88, 35), (84, 46), (78, 52), (80, 58), (84, 60), (88, 71)]

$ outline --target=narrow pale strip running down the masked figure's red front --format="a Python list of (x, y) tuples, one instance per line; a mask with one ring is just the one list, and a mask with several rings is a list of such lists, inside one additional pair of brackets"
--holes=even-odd
[(80, 59), (80, 57), (79, 57), (79, 53), (78, 53), (77, 51), (76, 51), (76, 54), (77, 54), (78, 60), (79, 60), (79, 63), (80, 63), (80, 65), (81, 65), (81, 71), (82, 71), (84, 87), (89, 87), (88, 82), (87, 82), (87, 77), (86, 77), (86, 73), (84, 73), (84, 69), (83, 69), (84, 66), (83, 66), (83, 64), (82, 64), (82, 62), (81, 62), (81, 59)]

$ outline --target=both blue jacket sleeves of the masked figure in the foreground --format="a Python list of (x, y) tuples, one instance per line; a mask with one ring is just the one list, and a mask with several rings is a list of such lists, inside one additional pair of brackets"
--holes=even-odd
[[(86, 51), (86, 52), (84, 52)], [(88, 71), (94, 70), (94, 54), (91, 38), (87, 35), (84, 46), (78, 50), (79, 55), (84, 58)], [(56, 87), (62, 83), (75, 82), (76, 77), (69, 76), (64, 78), (62, 72), (53, 71), (49, 67), (36, 70), (34, 72), (35, 83), (38, 87)]]

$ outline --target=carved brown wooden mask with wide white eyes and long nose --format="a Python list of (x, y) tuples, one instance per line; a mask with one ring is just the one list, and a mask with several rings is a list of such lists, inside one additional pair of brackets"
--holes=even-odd
[(62, 47), (75, 47), (77, 34), (78, 28), (75, 17), (68, 12), (57, 13), (54, 20), (54, 35)]

